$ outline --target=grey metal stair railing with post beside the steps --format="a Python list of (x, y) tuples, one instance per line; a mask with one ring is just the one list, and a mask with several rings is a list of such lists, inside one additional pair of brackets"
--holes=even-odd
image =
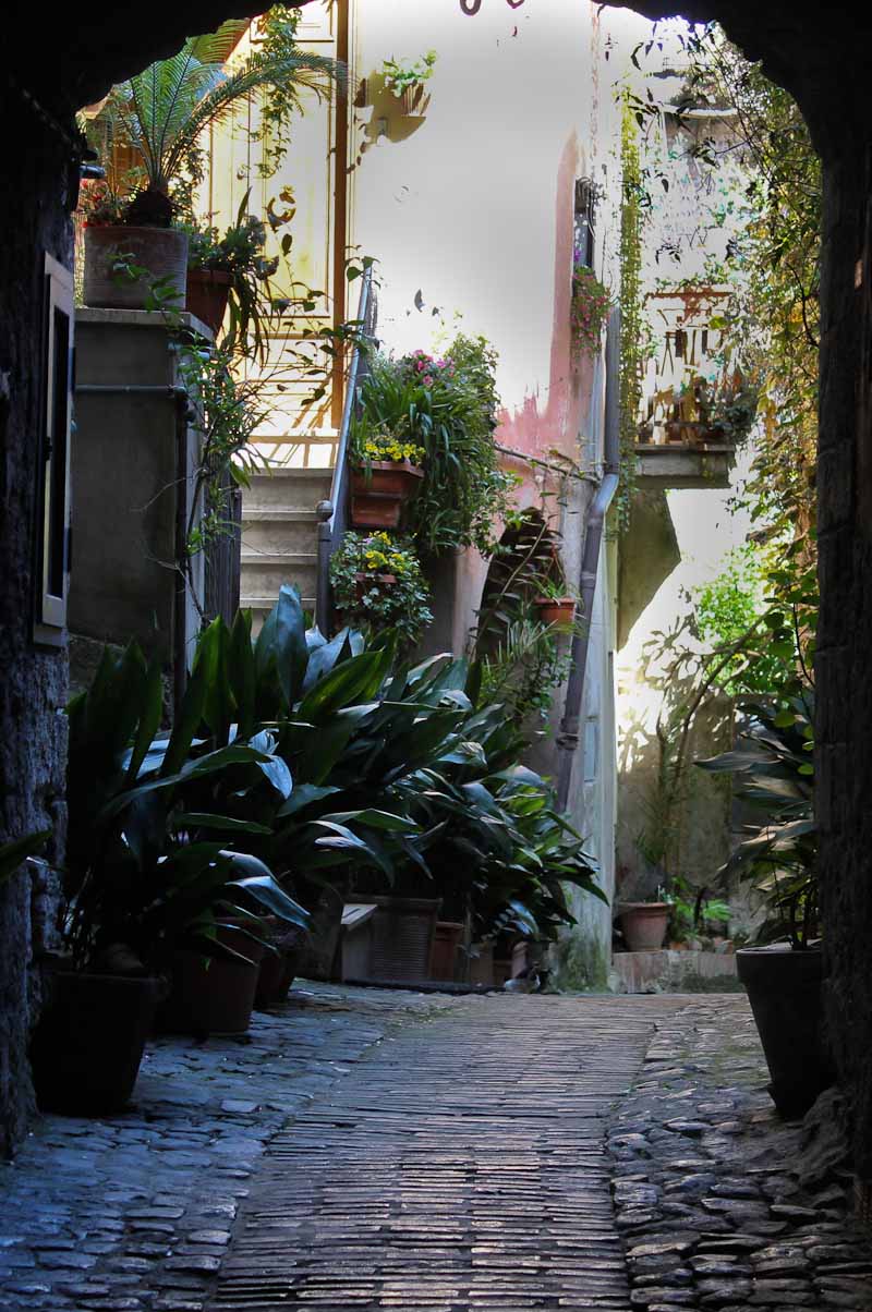
[[(373, 291), (372, 268), (364, 270), (360, 302), (357, 306), (357, 323), (360, 324), (360, 337), (374, 340), (376, 331), (376, 297)], [(355, 345), (348, 378), (345, 380), (345, 403), (343, 405), (343, 419), (336, 443), (336, 462), (334, 476), (330, 484), (330, 500), (319, 501), (315, 506), (318, 516), (318, 577), (315, 581), (315, 623), (324, 638), (330, 638), (332, 628), (332, 606), (330, 596), (330, 559), (340, 546), (348, 529), (348, 436), (351, 421), (357, 405), (357, 386), (364, 377), (366, 367), (365, 350), (360, 344)]]

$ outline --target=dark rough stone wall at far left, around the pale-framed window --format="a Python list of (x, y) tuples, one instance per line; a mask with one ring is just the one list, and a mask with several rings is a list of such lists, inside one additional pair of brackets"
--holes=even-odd
[[(33, 551), (42, 373), (43, 252), (71, 260), (70, 144), (14, 91), (0, 94), (14, 181), (0, 189), (0, 842), (64, 828), (66, 653), (34, 647)], [(11, 143), (11, 144), (9, 144)], [(75, 176), (75, 174), (74, 174)], [(0, 1151), (33, 1105), (26, 1044), (38, 1006), (33, 954), (50, 933), (51, 887), (18, 874), (0, 890)]]

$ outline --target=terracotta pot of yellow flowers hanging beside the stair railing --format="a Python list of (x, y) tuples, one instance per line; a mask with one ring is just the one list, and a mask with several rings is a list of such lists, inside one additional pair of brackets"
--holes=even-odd
[(399, 527), (403, 506), (424, 476), (423, 447), (385, 429), (355, 425), (351, 446), (351, 522), (359, 529)]

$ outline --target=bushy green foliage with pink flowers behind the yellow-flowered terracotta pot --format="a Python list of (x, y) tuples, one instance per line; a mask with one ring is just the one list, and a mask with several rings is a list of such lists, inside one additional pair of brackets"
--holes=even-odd
[(499, 467), (496, 357), (483, 337), (458, 335), (443, 359), (415, 352), (377, 357), (359, 390), (364, 426), (424, 451), (423, 487), (410, 509), (422, 552), (492, 550), (492, 526), (516, 484)]

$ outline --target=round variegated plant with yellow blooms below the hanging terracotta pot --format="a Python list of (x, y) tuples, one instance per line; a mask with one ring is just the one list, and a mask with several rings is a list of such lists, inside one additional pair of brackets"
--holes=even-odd
[(362, 632), (393, 628), (414, 647), (433, 615), (420, 562), (387, 533), (347, 533), (330, 562), (334, 601), (345, 623)]

